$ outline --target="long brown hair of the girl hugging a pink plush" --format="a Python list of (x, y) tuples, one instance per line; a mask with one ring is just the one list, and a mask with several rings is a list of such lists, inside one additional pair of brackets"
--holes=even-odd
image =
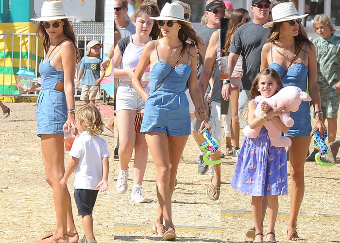
[[(258, 81), (261, 79), (261, 77), (263, 77), (265, 75), (271, 76), (272, 79), (276, 81), (276, 84), (279, 86), (279, 89), (283, 88), (280, 74), (275, 69), (265, 68), (262, 71), (260, 71), (259, 73), (257, 73), (257, 75), (254, 79), (252, 87), (250, 88), (250, 91), (249, 91), (249, 100), (250, 101), (255, 99), (256, 96), (261, 95), (261, 93), (258, 91), (257, 86), (258, 86)], [(247, 105), (246, 109), (244, 110), (244, 112), (242, 114), (240, 121), (247, 121), (248, 120), (248, 112), (249, 112), (249, 108), (248, 108), (248, 105)]]

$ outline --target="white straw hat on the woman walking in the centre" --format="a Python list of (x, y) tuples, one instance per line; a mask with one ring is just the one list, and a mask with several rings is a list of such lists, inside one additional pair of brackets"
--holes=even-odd
[(159, 17), (150, 18), (155, 20), (178, 20), (192, 24), (191, 22), (184, 20), (184, 8), (182, 5), (176, 4), (176, 2), (171, 4), (169, 2), (165, 3)]

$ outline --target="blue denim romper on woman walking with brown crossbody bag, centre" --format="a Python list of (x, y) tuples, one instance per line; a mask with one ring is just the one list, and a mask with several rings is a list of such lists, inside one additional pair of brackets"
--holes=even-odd
[(177, 66), (164, 83), (153, 92), (171, 70), (169, 64), (159, 60), (156, 42), (155, 45), (158, 61), (150, 71), (151, 91), (149, 98), (145, 101), (145, 113), (140, 131), (142, 133), (162, 132), (168, 137), (189, 135), (191, 133), (190, 113), (185, 91), (191, 67), (187, 63)]

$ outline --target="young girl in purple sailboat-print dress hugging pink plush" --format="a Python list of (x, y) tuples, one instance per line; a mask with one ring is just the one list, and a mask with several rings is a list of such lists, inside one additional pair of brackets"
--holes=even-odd
[[(275, 221), (278, 212), (277, 195), (287, 194), (287, 155), (286, 149), (271, 145), (268, 131), (263, 126), (271, 120), (282, 132), (287, 133), (280, 118), (287, 112), (285, 106), (271, 107), (266, 102), (257, 104), (255, 97), (262, 95), (269, 98), (282, 88), (279, 74), (271, 68), (266, 68), (257, 74), (250, 89), (248, 104), (248, 124), (250, 128), (262, 126), (255, 139), (244, 137), (238, 161), (235, 166), (231, 186), (252, 196), (252, 214), (255, 223), (254, 243), (263, 242), (263, 227), (261, 226), (262, 200), (268, 198), (268, 233), (267, 243), (275, 241)], [(262, 116), (255, 117), (255, 108), (261, 105)]]

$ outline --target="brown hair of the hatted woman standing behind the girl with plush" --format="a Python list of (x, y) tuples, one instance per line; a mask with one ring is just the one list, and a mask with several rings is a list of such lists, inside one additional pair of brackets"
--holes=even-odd
[[(272, 42), (272, 41), (279, 39), (280, 29), (282, 27), (282, 24), (283, 24), (283, 22), (273, 23), (272, 28), (271, 28), (269, 35), (268, 35), (267, 42)], [(308, 46), (311, 45), (311, 42), (308, 39), (307, 33), (306, 33), (302, 24), (299, 24), (299, 33), (298, 33), (298, 35), (294, 36), (294, 42), (295, 42), (295, 53), (297, 53), (296, 51), (298, 50), (298, 48), (301, 48), (303, 43), (306, 42), (308, 44)]]

